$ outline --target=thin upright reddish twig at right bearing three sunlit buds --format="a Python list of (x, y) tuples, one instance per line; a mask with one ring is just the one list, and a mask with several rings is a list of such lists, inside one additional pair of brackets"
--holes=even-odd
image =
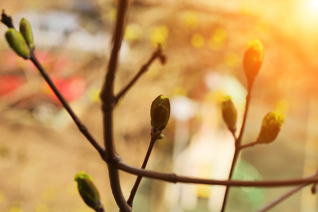
[[(249, 110), (249, 102), (251, 100), (251, 90), (252, 90), (252, 85), (249, 84), (249, 86), (247, 88), (246, 105), (245, 105), (245, 112), (244, 112), (242, 127), (240, 130), (239, 136), (237, 137), (237, 139), (235, 139), (235, 153), (233, 156), (232, 165), (230, 168), (230, 173), (228, 175), (228, 179), (232, 179), (234, 168), (235, 168), (235, 165), (237, 163), (237, 159), (240, 155), (240, 148), (239, 147), (241, 146), (241, 143), (242, 143), (242, 136), (243, 136), (243, 133), (245, 130), (245, 124), (247, 121), (247, 112)], [(228, 192), (229, 191), (230, 191), (230, 187), (226, 187), (221, 212), (225, 211), (225, 206), (226, 206), (226, 202), (228, 201)]]

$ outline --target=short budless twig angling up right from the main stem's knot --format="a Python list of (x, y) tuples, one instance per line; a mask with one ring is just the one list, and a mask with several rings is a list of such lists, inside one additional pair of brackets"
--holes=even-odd
[(153, 52), (153, 55), (151, 56), (151, 58), (147, 61), (146, 64), (143, 64), (143, 66), (141, 66), (141, 69), (138, 71), (138, 73), (136, 73), (136, 76), (134, 76), (134, 78), (131, 79), (130, 83), (125, 87), (123, 88), (118, 94), (117, 96), (115, 97), (116, 99), (116, 102), (119, 101), (120, 98), (122, 98), (122, 96), (132, 87), (134, 86), (134, 83), (136, 83), (136, 81), (140, 78), (140, 76), (145, 73), (149, 66), (151, 66), (151, 64), (153, 63), (153, 61), (157, 58), (161, 59), (163, 58), (163, 49), (161, 47), (160, 44), (158, 44), (158, 49)]

